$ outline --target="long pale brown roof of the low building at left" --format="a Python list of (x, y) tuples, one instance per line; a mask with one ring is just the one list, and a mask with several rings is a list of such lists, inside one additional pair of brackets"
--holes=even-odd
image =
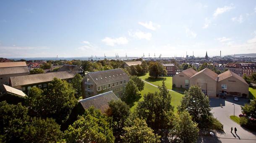
[(74, 74), (68, 71), (63, 71), (63, 72), (15, 76), (15, 77), (10, 77), (10, 83), (12, 87), (21, 86), (21, 85), (30, 85), (30, 84), (49, 82), (49, 81), (52, 81), (53, 78), (55, 77), (60, 79), (68, 79), (68, 78), (73, 78)]

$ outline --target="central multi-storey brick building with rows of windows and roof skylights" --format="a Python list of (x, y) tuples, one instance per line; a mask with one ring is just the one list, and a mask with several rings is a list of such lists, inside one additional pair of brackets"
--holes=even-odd
[(82, 81), (83, 99), (111, 90), (120, 97), (128, 81), (129, 76), (122, 69), (88, 73)]

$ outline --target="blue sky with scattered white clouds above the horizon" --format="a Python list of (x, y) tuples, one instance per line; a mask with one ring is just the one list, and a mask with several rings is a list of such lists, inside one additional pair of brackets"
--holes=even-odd
[(0, 57), (256, 53), (256, 0), (1, 0)]

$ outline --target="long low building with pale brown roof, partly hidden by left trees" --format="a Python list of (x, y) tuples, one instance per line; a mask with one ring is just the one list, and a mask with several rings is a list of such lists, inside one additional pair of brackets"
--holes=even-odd
[(67, 80), (69, 83), (74, 77), (74, 74), (69, 71), (41, 73), (34, 75), (23, 75), (10, 77), (10, 86), (19, 90), (22, 90), (28, 95), (31, 87), (47, 88), (53, 78), (60, 78), (61, 80)]

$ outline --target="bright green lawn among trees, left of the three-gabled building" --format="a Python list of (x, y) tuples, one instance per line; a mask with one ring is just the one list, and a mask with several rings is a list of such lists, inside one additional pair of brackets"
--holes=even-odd
[[(158, 78), (152, 78), (152, 77), (149, 77), (149, 73), (147, 73), (146, 75), (144, 76), (141, 76), (140, 77), (142, 80), (145, 80), (149, 83), (152, 83), (154, 85), (159, 85), (161, 86), (162, 85), (162, 80), (165, 80), (165, 85), (167, 86), (168, 89), (172, 90), (172, 77), (158, 77)], [(181, 89), (182, 90), (182, 89)], [(139, 101), (142, 101), (143, 100), (143, 96), (147, 93), (154, 93), (155, 91), (159, 92), (159, 89), (152, 86), (152, 85), (149, 85), (148, 83), (145, 83), (145, 86), (144, 86), (144, 90), (142, 90), (140, 93), (141, 93), (141, 98), (139, 98), (136, 102), (133, 103), (133, 105), (131, 105), (131, 111), (133, 111), (136, 106), (138, 105), (138, 102)], [(175, 112), (177, 112), (177, 106), (180, 105), (180, 100), (182, 99), (183, 97), (183, 94), (180, 94), (178, 92), (175, 92), (175, 91), (170, 91), (171, 93), (171, 96), (172, 96), (172, 105), (175, 107)]]

